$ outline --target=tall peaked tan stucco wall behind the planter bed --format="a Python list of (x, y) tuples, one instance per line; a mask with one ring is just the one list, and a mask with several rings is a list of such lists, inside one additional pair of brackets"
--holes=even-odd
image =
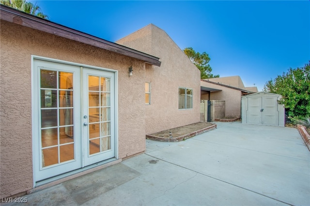
[[(165, 31), (150, 24), (117, 41), (118, 44), (159, 57), (161, 66), (146, 66), (151, 104), (145, 105), (146, 133), (200, 121), (200, 71)], [(178, 88), (193, 89), (193, 108), (178, 109)]]

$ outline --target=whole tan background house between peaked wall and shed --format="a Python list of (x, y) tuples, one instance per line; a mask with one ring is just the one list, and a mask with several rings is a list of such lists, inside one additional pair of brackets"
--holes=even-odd
[(255, 91), (256, 87), (246, 88), (240, 76), (201, 80), (201, 100), (225, 100), (226, 117), (241, 117), (241, 97)]

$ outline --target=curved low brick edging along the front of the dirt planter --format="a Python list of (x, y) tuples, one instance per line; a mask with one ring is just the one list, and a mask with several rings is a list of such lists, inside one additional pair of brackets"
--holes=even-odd
[(195, 135), (202, 134), (204, 132), (208, 132), (208, 131), (211, 131), (211, 130), (214, 130), (214, 129), (217, 129), (217, 125), (216, 124), (213, 124), (213, 125), (211, 125), (209, 127), (206, 127), (206, 128), (194, 131), (194, 132), (190, 132), (188, 134), (184, 134), (184, 135), (178, 136), (178, 137), (171, 137), (171, 138), (168, 137), (167, 138), (167, 137), (154, 136), (153, 134), (146, 134), (146, 139), (151, 139), (151, 140), (160, 141), (160, 142), (179, 142), (179, 141), (191, 138), (191, 137), (193, 137)]

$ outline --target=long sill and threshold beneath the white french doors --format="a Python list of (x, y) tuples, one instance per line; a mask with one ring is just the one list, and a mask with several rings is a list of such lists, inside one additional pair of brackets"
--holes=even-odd
[(64, 173), (62, 175), (50, 177), (48, 179), (44, 179), (44, 180), (35, 182), (34, 188), (27, 191), (27, 193), (30, 194), (30, 193), (35, 192), (35, 191), (40, 191), (40, 190), (46, 189), (48, 187), (58, 185), (62, 182), (68, 181), (70, 179), (74, 179), (76, 177), (80, 177), (80, 176), (92, 173), (94, 171), (109, 167), (113, 164), (117, 164), (120, 162), (122, 162), (122, 159), (111, 158), (109, 160), (97, 162), (97, 163), (91, 164), (89, 166), (86, 166), (86, 167), (83, 167), (83, 168), (80, 168), (80, 169), (77, 169), (77, 170), (74, 170), (71, 172)]

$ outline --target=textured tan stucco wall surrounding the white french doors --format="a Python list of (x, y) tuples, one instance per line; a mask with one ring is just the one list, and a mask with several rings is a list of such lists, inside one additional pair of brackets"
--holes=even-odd
[(6, 21), (0, 27), (1, 197), (33, 187), (31, 55), (118, 70), (119, 158), (145, 150), (144, 62)]

